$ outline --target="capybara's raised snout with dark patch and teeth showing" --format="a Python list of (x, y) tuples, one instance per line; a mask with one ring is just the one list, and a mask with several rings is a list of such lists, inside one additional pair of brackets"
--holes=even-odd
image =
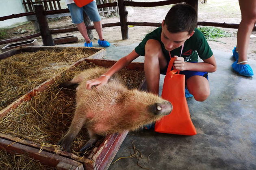
[(172, 104), (168, 101), (162, 103), (155, 103), (150, 106), (150, 111), (154, 115), (169, 115), (172, 110)]

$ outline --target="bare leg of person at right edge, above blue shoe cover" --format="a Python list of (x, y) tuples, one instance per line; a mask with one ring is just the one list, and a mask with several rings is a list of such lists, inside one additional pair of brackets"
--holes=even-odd
[(237, 30), (236, 51), (239, 51), (238, 62), (242, 62), (247, 61), (250, 35), (256, 22), (256, 0), (239, 0), (239, 6), (242, 19)]

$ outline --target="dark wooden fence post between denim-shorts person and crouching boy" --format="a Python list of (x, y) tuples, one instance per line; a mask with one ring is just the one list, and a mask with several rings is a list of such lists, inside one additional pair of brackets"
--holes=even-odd
[(117, 0), (118, 9), (119, 9), (119, 16), (120, 16), (120, 23), (121, 23), (121, 34), (122, 39), (128, 39), (128, 26), (127, 22), (127, 14), (126, 7), (124, 6), (124, 0)]

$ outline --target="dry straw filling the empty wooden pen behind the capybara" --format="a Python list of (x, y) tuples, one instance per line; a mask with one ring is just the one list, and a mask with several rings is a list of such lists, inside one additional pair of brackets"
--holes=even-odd
[(85, 48), (52, 49), (23, 52), (0, 60), (0, 110), (66, 66), (95, 52)]

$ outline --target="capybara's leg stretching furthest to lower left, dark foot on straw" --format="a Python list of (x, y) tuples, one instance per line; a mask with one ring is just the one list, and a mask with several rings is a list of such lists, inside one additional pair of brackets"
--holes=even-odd
[(69, 131), (58, 142), (58, 144), (61, 145), (63, 149), (65, 149), (67, 152), (70, 152), (71, 143), (73, 142), (78, 132), (81, 130), (84, 123), (85, 123), (85, 117), (83, 117), (82, 115), (79, 115), (78, 113), (75, 113), (72, 123), (69, 127)]

